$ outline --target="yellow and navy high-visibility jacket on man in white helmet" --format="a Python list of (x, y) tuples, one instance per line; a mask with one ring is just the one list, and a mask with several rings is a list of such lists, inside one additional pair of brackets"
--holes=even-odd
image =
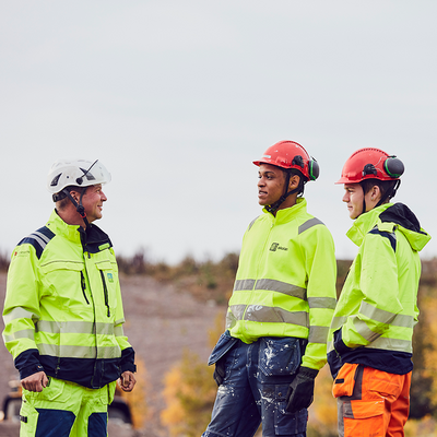
[(44, 370), (99, 388), (135, 369), (122, 331), (114, 250), (95, 225), (85, 233), (54, 211), (46, 226), (16, 246), (3, 319), (4, 343), (21, 378)]

